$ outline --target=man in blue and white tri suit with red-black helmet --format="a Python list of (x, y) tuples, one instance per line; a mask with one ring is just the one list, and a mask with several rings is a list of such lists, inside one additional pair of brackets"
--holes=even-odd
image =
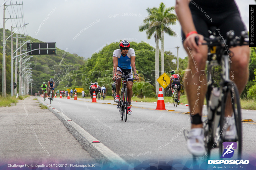
[[(134, 73), (134, 78), (135, 80), (138, 80), (138, 74), (136, 71), (135, 67), (135, 52), (133, 48), (130, 48), (130, 43), (127, 40), (122, 40), (119, 44), (120, 49), (114, 50), (113, 53), (113, 73), (114, 76), (112, 80), (116, 80), (116, 96), (115, 96), (115, 101), (119, 102), (120, 101), (120, 86), (121, 86), (121, 79), (117, 79), (121, 76), (116, 75), (116, 74), (123, 74), (128, 75), (132, 71)], [(133, 75), (130, 75), (130, 78), (128, 79), (127, 82), (127, 98), (128, 98), (128, 113), (127, 114), (132, 114), (131, 111), (131, 99), (132, 99), (132, 86), (133, 86)]]

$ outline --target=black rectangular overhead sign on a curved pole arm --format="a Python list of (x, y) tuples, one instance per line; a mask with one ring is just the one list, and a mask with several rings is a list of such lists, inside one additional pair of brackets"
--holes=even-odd
[(56, 43), (28, 43), (28, 55), (50, 55), (56, 54)]

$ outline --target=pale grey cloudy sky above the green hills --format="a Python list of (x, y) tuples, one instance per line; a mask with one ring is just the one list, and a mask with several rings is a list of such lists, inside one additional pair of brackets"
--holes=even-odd
[[(0, 5), (5, 1), (1, 0)], [(15, 0), (9, 0), (6, 4), (10, 4), (10, 2), (16, 4)], [(16, 15), (21, 17), (23, 13), (23, 19), (8, 19), (6, 29), (10, 30), (11, 25), (15, 27), (16, 24), (20, 26), (24, 22), (29, 23), (25, 29), (19, 29), (18, 31), (25, 32), (25, 34), (44, 42), (56, 42), (58, 48), (68, 49), (67, 51), (71, 54), (76, 53), (88, 58), (94, 52), (101, 50), (106, 44), (122, 39), (135, 42), (144, 41), (155, 46), (154, 39), (148, 40), (146, 33), (139, 32), (138, 28), (147, 16), (146, 8), (159, 7), (161, 2), (166, 7), (175, 6), (175, 0), (23, 0), (23, 6), (7, 7), (6, 18), (9, 18), (10, 15), (12, 18), (15, 18)], [(255, 4), (255, 1), (236, 0), (236, 2), (242, 19), (248, 28), (249, 4)], [(17, 0), (17, 4), (19, 3), (22, 3), (22, 1)], [(0, 18), (3, 18), (2, 9), (3, 6), (1, 7)], [(3, 28), (3, 22), (1, 22), (0, 27)], [(179, 22), (172, 28), (180, 34)], [(160, 41), (159, 46), (161, 47)], [(181, 47), (179, 48), (179, 57), (186, 57), (180, 39), (165, 34), (165, 50), (170, 50), (174, 55), (177, 55), (177, 49), (175, 48), (177, 46)], [(110, 57), (112, 57), (111, 54)]]

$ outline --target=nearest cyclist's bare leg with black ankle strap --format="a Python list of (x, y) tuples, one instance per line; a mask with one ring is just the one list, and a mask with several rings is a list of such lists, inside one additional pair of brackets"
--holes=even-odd
[[(184, 48), (187, 49), (187, 47), (185, 46)], [(197, 53), (195, 50), (192, 50), (189, 53), (189, 51), (187, 50), (187, 54), (189, 56), (187, 69), (189, 71), (185, 72), (184, 77), (187, 77), (187, 79), (183, 80), (183, 83), (185, 85), (188, 103), (189, 103), (189, 110), (191, 115), (199, 113), (199, 115), (201, 116), (207, 82), (206, 82), (205, 76), (200, 76), (205, 72), (201, 71), (200, 74), (195, 74), (195, 73), (200, 70), (205, 70), (208, 48), (207, 46), (202, 45), (202, 46), (199, 46), (199, 49), (200, 49), (199, 53)], [(202, 128), (202, 126), (203, 126), (202, 123), (191, 124), (191, 129)]]

